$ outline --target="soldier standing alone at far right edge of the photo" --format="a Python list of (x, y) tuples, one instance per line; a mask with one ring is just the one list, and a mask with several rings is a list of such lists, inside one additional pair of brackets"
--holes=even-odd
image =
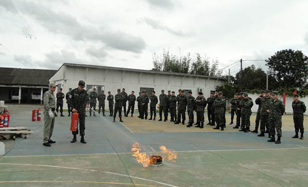
[(294, 121), (294, 128), (295, 128), (295, 136), (292, 138), (298, 138), (298, 131), (300, 130), (300, 138), (301, 140), (304, 139), (304, 113), (306, 111), (305, 103), (298, 100), (298, 95), (295, 94), (293, 96), (294, 101), (292, 102), (293, 108), (293, 121)]

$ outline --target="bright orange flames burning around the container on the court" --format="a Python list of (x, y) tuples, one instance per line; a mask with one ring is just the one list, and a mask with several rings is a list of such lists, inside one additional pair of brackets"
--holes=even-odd
[[(152, 151), (155, 152), (155, 150), (150, 147), (152, 149)], [(161, 149), (161, 151), (165, 154), (167, 154), (167, 159), (170, 160), (171, 162), (176, 162), (175, 159), (177, 159), (177, 154), (174, 152), (174, 150), (171, 149), (167, 149), (165, 146), (161, 145), (159, 147)], [(132, 145), (131, 151), (133, 152), (133, 157), (136, 157), (137, 162), (141, 163), (143, 165), (143, 167), (147, 167), (151, 164), (156, 163), (157, 158), (156, 157), (151, 157), (152, 155), (150, 155), (149, 157), (147, 157), (146, 153), (141, 152), (142, 149), (140, 148), (140, 144), (138, 142), (134, 143)], [(163, 157), (164, 160), (164, 157)]]

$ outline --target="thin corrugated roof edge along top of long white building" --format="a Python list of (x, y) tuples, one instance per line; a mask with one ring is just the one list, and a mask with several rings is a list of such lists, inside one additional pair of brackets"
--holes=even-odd
[(134, 71), (134, 72), (145, 72), (145, 73), (155, 73), (155, 74), (173, 74), (177, 76), (189, 76), (189, 77), (199, 77), (199, 78), (209, 78), (209, 79), (220, 79), (227, 80), (221, 77), (210, 77), (210, 76), (201, 76), (199, 74), (187, 74), (187, 73), (176, 73), (176, 72), (166, 72), (166, 71), (152, 71), (144, 69), (131, 69), (123, 67), (111, 67), (111, 66), (98, 66), (98, 65), (88, 65), (88, 64), (73, 64), (73, 63), (64, 63), (62, 66), (67, 67), (85, 67), (85, 68), (100, 68), (100, 69), (111, 69), (111, 70), (122, 70), (122, 71)]

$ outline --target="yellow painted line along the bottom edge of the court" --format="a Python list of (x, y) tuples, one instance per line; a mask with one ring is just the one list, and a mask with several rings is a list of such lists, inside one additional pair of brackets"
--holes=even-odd
[(117, 185), (136, 185), (146, 187), (161, 187), (157, 185), (132, 184), (124, 182), (99, 182), (99, 181), (62, 181), (62, 180), (16, 180), (16, 181), (0, 181), (0, 183), (91, 183), (91, 184), (117, 184)]

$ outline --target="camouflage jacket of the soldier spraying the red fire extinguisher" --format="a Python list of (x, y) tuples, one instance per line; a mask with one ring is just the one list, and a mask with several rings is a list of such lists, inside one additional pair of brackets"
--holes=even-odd
[(71, 96), (73, 108), (78, 110), (79, 114), (85, 113), (86, 105), (89, 104), (88, 92), (85, 89), (80, 91), (78, 88), (75, 88), (72, 90)]

